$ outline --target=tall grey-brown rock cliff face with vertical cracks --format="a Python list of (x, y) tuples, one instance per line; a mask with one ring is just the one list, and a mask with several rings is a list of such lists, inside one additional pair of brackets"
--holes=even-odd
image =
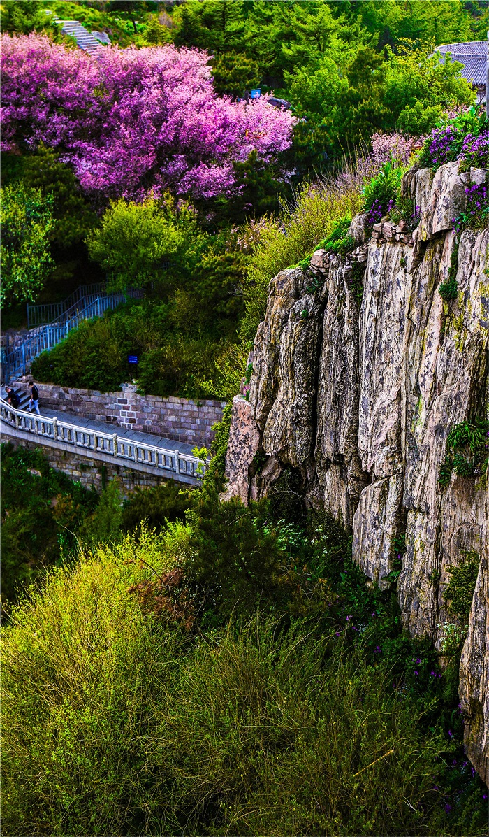
[[(484, 176), (471, 171), (473, 180)], [(461, 706), (467, 752), (487, 782), (486, 473), (438, 481), (451, 428), (487, 416), (489, 404), (487, 229), (461, 234), (457, 299), (444, 302), (438, 292), (456, 259), (452, 219), (464, 208), (462, 177), (456, 163), (434, 176), (429, 169), (405, 175), (405, 196), (420, 207), (412, 239), (384, 223), (366, 240), (359, 216), (350, 228), (353, 254), (319, 250), (306, 272), (284, 270), (272, 280), (249, 403), (235, 399), (227, 496), (264, 496), (292, 469), (312, 506), (352, 526), (354, 558), (380, 587), (390, 583), (395, 538), (405, 531), (398, 580), (405, 628), (428, 634), (440, 652), (443, 626), (454, 621), (444, 598), (448, 569), (467, 552), (480, 556)], [(264, 454), (258, 472), (257, 450)]]

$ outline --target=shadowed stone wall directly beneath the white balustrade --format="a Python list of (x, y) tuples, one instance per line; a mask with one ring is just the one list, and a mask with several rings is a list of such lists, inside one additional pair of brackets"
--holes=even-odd
[(157, 474), (144, 474), (140, 471), (125, 468), (124, 465), (104, 465), (97, 460), (89, 459), (89, 457), (80, 457), (80, 454), (75, 450), (48, 448), (46, 445), (39, 445), (35, 441), (31, 442), (10, 436), (3, 437), (3, 442), (10, 442), (15, 448), (22, 447), (33, 450), (40, 447), (51, 468), (63, 471), (71, 480), (80, 482), (84, 488), (94, 486), (98, 493), (107, 482), (114, 479), (119, 483), (122, 496), (127, 496), (138, 485), (150, 488), (153, 485), (166, 482), (165, 477)]

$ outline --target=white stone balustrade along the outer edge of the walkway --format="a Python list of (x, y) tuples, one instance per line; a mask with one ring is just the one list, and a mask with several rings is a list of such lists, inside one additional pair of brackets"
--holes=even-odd
[[(99, 430), (68, 424), (59, 419), (49, 419), (36, 413), (16, 410), (0, 399), (0, 419), (12, 428), (32, 434), (43, 444), (43, 439), (54, 445), (70, 445), (74, 450), (90, 451), (94, 459), (97, 456), (112, 456), (115, 464), (131, 467), (145, 465), (154, 473), (168, 475), (169, 479), (188, 480), (195, 484), (201, 480), (210, 460), (202, 461), (191, 454), (182, 454), (179, 450), (156, 447), (136, 439), (128, 439), (116, 433), (103, 433)], [(175, 476), (173, 476), (175, 475)]]

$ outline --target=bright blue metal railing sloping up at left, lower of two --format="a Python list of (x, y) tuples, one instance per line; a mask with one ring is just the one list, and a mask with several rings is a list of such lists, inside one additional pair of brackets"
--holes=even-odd
[[(90, 287), (90, 286), (89, 286)], [(73, 302), (71, 297), (59, 303), (67, 306), (64, 311), (58, 311), (52, 322), (32, 329), (23, 341), (14, 347), (6, 347), (2, 352), (3, 383), (10, 383), (21, 375), (25, 375), (33, 361), (41, 352), (49, 351), (57, 346), (72, 329), (77, 328), (82, 320), (89, 320), (94, 316), (101, 316), (104, 311), (114, 309), (128, 298), (139, 299), (143, 295), (141, 290), (127, 290), (124, 294), (88, 294)], [(44, 308), (48, 306), (33, 306)]]

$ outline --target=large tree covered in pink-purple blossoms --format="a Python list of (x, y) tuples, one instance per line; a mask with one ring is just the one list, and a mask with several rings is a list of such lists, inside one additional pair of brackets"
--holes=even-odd
[(208, 56), (171, 45), (79, 49), (29, 36), (2, 38), (3, 148), (40, 141), (74, 167), (94, 198), (141, 199), (171, 188), (213, 198), (237, 190), (233, 162), (276, 160), (293, 116), (216, 95)]

